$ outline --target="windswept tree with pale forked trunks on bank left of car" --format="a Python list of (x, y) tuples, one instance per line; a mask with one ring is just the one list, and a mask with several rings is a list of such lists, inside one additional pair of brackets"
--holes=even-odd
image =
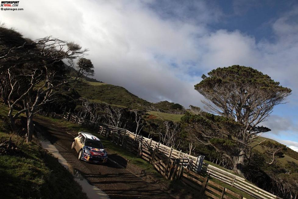
[[(54, 100), (57, 93), (69, 91), (72, 87), (65, 87), (78, 77), (67, 77), (60, 74), (62, 60), (71, 60), (85, 55), (83, 49), (73, 43), (65, 42), (54, 37), (45, 37), (34, 41), (31, 57), (26, 60), (27, 53), (21, 54), (23, 59), (16, 61), (7, 69), (9, 78), (9, 119), (15, 129), (15, 119), (23, 112), (27, 116), (27, 142), (32, 138), (32, 118), (41, 105)], [(64, 66), (63, 66), (64, 67)], [(62, 68), (63, 68), (62, 67)], [(27, 85), (24, 87), (24, 83)], [(21, 89), (22, 88), (22, 89)], [(16, 105), (23, 102), (23, 109), (13, 113)]]

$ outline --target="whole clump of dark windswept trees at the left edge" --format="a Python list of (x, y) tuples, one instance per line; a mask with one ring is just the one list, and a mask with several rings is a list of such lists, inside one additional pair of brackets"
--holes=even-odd
[[(9, 37), (12, 38), (10, 38)], [(0, 85), (3, 101), (9, 105), (9, 120), (27, 116), (27, 142), (32, 138), (34, 114), (55, 96), (72, 90), (69, 83), (93, 75), (93, 64), (83, 58), (88, 49), (74, 42), (47, 36), (31, 41), (13, 29), (0, 26)], [(78, 59), (77, 62), (75, 60)], [(75, 76), (66, 72), (76, 70)]]

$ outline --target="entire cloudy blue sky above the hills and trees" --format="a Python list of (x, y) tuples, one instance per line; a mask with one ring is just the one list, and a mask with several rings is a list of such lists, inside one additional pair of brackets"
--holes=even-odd
[(253, 67), (292, 95), (262, 123), (298, 151), (298, 2), (274, 0), (20, 0), (0, 21), (25, 37), (53, 35), (90, 51), (95, 78), (150, 102), (203, 108), (194, 85), (212, 69)]

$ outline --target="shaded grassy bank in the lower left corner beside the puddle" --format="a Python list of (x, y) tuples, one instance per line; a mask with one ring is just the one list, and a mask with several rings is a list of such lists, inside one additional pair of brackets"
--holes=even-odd
[[(0, 132), (0, 143), (9, 136)], [(87, 198), (73, 176), (35, 142), (24, 143), (16, 135), (12, 142), (23, 153), (0, 155), (1, 198)]]

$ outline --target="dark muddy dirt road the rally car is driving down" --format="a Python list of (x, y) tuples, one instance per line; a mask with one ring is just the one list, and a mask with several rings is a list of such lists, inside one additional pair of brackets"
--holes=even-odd
[(76, 151), (70, 149), (74, 135), (40, 118), (34, 119), (34, 124), (71, 166), (80, 171), (90, 184), (100, 188), (110, 198), (172, 198), (169, 193), (160, 190), (158, 186), (145, 182), (110, 160), (103, 165), (78, 160)]

